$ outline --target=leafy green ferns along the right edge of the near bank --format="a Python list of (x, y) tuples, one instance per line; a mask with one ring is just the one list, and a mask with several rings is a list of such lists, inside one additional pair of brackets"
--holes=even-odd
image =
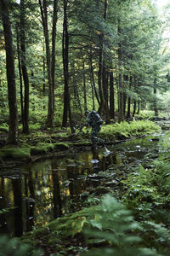
[[(122, 201), (133, 209), (136, 218), (141, 221), (145, 244), (155, 247), (159, 252), (168, 255), (170, 246), (170, 224), (168, 206), (170, 203), (169, 162), (156, 160), (151, 169), (139, 166), (122, 181), (126, 193)], [(151, 241), (149, 236), (152, 237)]]

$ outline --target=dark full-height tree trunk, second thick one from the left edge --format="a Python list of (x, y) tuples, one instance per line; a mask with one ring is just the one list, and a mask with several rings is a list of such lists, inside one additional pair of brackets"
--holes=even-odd
[(26, 33), (25, 33), (25, 0), (20, 0), (20, 49), (21, 68), (25, 85), (24, 112), (23, 112), (23, 132), (29, 133), (29, 80), (26, 68)]

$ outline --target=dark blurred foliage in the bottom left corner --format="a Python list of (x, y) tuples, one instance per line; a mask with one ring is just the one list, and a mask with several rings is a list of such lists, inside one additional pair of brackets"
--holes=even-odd
[(42, 255), (40, 250), (32, 250), (30, 246), (22, 244), (19, 238), (9, 239), (0, 236), (0, 256), (38, 256)]

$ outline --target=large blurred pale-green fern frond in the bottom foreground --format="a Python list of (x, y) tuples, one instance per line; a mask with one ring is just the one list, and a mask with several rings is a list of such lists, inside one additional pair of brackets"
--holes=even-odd
[(141, 239), (134, 234), (134, 230), (141, 229), (139, 224), (131, 212), (111, 195), (102, 198), (93, 215), (94, 218), (87, 221), (85, 235), (94, 247), (104, 246), (82, 255), (159, 255), (154, 249), (139, 246)]

